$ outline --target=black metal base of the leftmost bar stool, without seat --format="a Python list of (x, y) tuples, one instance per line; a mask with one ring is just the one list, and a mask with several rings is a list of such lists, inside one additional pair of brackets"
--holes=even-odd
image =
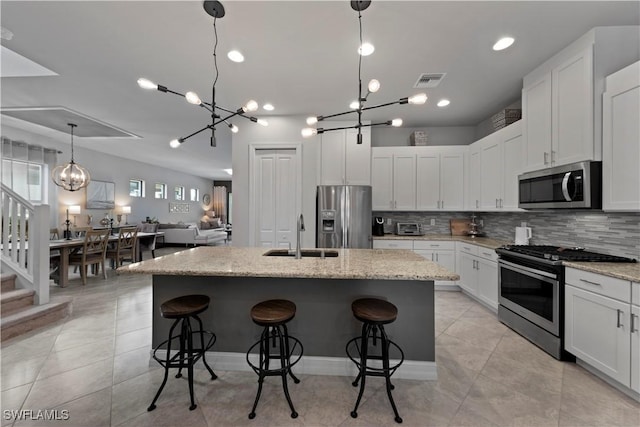
[[(191, 329), (191, 322), (189, 320), (190, 317), (193, 317), (198, 321), (200, 329), (193, 331)], [(180, 334), (174, 336), (173, 331), (178, 325), (178, 323), (182, 322), (180, 328)], [(200, 347), (193, 347), (193, 336), (200, 337)], [(205, 335), (208, 337), (207, 343), (205, 345)], [(179, 350), (173, 356), (171, 355), (171, 343), (175, 340), (179, 341)], [(207, 368), (207, 371), (211, 374), (211, 380), (215, 380), (218, 376), (213, 372), (213, 369), (207, 363), (207, 359), (205, 358), (205, 353), (215, 344), (216, 335), (213, 332), (205, 331), (202, 328), (202, 321), (196, 315), (178, 318), (171, 325), (171, 329), (169, 329), (169, 339), (161, 342), (154, 350), (153, 350), (153, 358), (164, 368), (164, 378), (162, 379), (162, 384), (160, 384), (160, 388), (156, 393), (151, 405), (147, 408), (147, 411), (153, 411), (156, 409), (156, 401), (160, 397), (164, 386), (167, 384), (167, 379), (169, 378), (169, 369), (178, 368), (178, 373), (175, 375), (176, 378), (182, 377), (182, 369), (187, 368), (187, 376), (189, 380), (189, 397), (191, 400), (191, 405), (189, 406), (189, 410), (193, 411), (198, 407), (195, 403), (194, 394), (193, 394), (193, 366), (202, 358), (202, 362), (204, 366)], [(158, 350), (161, 350), (162, 347), (166, 347), (166, 357), (164, 359), (159, 358), (156, 353)]]

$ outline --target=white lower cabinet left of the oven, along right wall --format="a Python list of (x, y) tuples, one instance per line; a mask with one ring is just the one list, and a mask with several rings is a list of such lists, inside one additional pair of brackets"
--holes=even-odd
[(469, 243), (456, 243), (458, 285), (494, 311), (498, 310), (498, 255)]

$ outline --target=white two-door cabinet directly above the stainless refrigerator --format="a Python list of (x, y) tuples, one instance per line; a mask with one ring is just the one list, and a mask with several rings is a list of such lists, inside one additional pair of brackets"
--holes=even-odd
[(371, 185), (371, 130), (344, 129), (320, 135), (321, 185)]

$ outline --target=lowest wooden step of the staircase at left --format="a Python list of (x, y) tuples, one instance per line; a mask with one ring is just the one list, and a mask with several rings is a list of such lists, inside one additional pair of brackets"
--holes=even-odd
[(0, 340), (5, 341), (25, 332), (46, 326), (71, 314), (71, 298), (43, 305), (32, 305), (0, 319)]

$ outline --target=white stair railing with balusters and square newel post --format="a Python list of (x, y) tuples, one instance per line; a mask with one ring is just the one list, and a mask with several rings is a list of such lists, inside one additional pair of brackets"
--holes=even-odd
[(49, 205), (33, 205), (1, 184), (3, 271), (19, 287), (35, 291), (35, 303), (49, 302)]

